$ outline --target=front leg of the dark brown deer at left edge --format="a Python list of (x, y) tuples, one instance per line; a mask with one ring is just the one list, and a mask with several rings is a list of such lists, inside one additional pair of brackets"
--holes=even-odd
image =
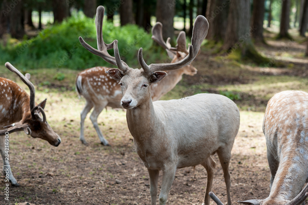
[(10, 150), (9, 150), (9, 147), (7, 149), (5, 148), (6, 148), (5, 147), (5, 136), (0, 136), (0, 153), (3, 159), (3, 174), (5, 176), (5, 180), (7, 179), (7, 176), (8, 176), (8, 179), (11, 182), (11, 185), (18, 187), (19, 184), (17, 183), (11, 171), (11, 167), (9, 163), (9, 154), (6, 154), (5, 152), (5, 151), (10, 151)]

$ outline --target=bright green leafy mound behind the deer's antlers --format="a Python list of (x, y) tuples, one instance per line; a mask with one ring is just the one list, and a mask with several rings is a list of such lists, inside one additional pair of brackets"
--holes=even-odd
[[(97, 48), (95, 22), (82, 13), (73, 15), (61, 24), (47, 27), (35, 38), (8, 41), (0, 45), (0, 63), (9, 61), (22, 68), (71, 68), (85, 69), (94, 66), (111, 66), (100, 57), (90, 53), (79, 43), (79, 36), (92, 47)], [(144, 51), (152, 46), (152, 39), (136, 25), (115, 27), (104, 21), (103, 36), (105, 43), (117, 39), (121, 59), (128, 65), (136, 65), (140, 47)], [(109, 50), (110, 55), (113, 49)]]

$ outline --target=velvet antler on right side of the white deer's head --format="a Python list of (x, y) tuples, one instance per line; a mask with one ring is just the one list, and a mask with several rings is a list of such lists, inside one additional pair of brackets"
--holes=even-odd
[(141, 67), (144, 70), (148, 70), (147, 67), (149, 67), (148, 74), (150, 75), (152, 72), (155, 71), (176, 70), (188, 65), (197, 56), (201, 43), (205, 39), (205, 36), (208, 33), (208, 28), (209, 28), (209, 23), (206, 20), (206, 18), (201, 15), (197, 16), (195, 20), (195, 25), (193, 27), (192, 45), (189, 46), (188, 55), (184, 59), (176, 63), (151, 64), (148, 66), (147, 64), (145, 64), (143, 59), (142, 60), (140, 59), (140, 56), (142, 56), (142, 49), (141, 49), (141, 55), (140, 55), (140, 50), (138, 54), (138, 61)]

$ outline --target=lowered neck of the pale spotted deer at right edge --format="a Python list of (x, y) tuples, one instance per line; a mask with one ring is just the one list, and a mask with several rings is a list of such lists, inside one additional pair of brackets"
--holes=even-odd
[(302, 190), (308, 174), (307, 158), (306, 154), (294, 153), (295, 150), (301, 152), (306, 149), (297, 147), (290, 153), (283, 154), (269, 198), (291, 200)]

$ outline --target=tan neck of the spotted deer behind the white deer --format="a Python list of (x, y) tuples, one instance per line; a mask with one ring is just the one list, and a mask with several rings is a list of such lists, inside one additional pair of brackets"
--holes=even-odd
[(167, 76), (156, 84), (151, 85), (152, 100), (159, 100), (164, 94), (172, 90), (180, 80), (183, 71), (181, 69), (168, 71)]

